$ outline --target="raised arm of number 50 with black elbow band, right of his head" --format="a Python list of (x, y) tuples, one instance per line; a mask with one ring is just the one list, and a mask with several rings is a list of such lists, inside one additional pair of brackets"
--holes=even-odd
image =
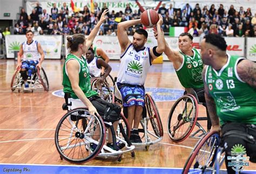
[(157, 37), (157, 47), (156, 50), (154, 48), (150, 48), (150, 55), (153, 61), (156, 59), (158, 56), (160, 56), (164, 50), (165, 50), (165, 40), (164, 40), (164, 32), (161, 30), (161, 25), (163, 24), (163, 17), (161, 14), (159, 15), (159, 20), (157, 22), (157, 32), (158, 32), (158, 37)]

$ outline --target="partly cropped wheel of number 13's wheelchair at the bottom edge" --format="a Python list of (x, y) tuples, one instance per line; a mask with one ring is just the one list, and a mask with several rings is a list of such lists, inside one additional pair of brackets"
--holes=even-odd
[(212, 171), (219, 144), (220, 136), (217, 132), (205, 134), (192, 150), (182, 173), (188, 173), (191, 166), (193, 169), (200, 169), (202, 173)]

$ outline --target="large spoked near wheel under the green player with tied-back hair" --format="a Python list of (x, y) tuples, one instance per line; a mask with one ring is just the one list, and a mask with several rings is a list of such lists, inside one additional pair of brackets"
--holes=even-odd
[(105, 142), (101, 117), (90, 115), (85, 107), (76, 108), (60, 119), (55, 145), (60, 157), (71, 163), (89, 162), (100, 153)]

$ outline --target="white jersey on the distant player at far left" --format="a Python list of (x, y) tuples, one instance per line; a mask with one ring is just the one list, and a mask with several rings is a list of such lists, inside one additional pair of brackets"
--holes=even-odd
[(37, 50), (37, 41), (33, 40), (30, 44), (28, 42), (23, 42), (23, 60), (27, 61), (39, 61), (40, 55)]

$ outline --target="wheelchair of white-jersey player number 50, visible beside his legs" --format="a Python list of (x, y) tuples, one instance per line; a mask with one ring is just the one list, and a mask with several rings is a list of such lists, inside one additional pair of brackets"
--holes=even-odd
[[(114, 84), (114, 101), (123, 104), (122, 95), (117, 83)], [(124, 112), (124, 115), (127, 115), (127, 113)], [(145, 107), (143, 108), (140, 125), (141, 127), (139, 127), (138, 132), (142, 143), (132, 143), (134, 146), (145, 146), (145, 149), (149, 150), (150, 145), (158, 143), (163, 139), (164, 131), (158, 108), (148, 93), (145, 95)]]

